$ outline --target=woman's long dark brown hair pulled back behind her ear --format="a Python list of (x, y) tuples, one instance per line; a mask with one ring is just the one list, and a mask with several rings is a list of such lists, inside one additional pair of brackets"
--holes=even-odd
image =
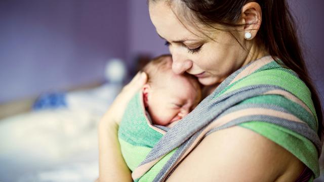
[[(149, 0), (149, 2), (157, 1)], [(165, 1), (170, 3), (176, 0)], [(225, 27), (242, 26), (237, 22), (244, 5), (250, 2), (258, 3), (262, 10), (262, 23), (255, 37), (256, 43), (263, 45), (274, 60), (279, 58), (286, 67), (295, 71), (308, 86), (318, 119), (317, 134), (322, 139), (323, 113), (319, 95), (307, 71), (297, 37), (296, 23), (286, 0), (178, 0), (178, 2), (191, 10), (190, 13), (195, 20), (209, 27), (215, 24)], [(234, 34), (232, 36), (237, 40)]]

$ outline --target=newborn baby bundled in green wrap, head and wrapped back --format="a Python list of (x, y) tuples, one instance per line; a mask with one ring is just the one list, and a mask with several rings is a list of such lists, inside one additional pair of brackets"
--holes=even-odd
[(201, 99), (198, 80), (186, 73), (173, 73), (170, 55), (153, 59), (143, 71), (148, 82), (130, 101), (118, 129), (121, 153), (132, 171), (168, 127), (185, 117)]

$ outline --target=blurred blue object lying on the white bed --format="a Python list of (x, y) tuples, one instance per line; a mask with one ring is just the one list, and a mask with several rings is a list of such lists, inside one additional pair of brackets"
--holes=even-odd
[(65, 93), (43, 94), (36, 99), (32, 109), (56, 109), (60, 107), (66, 107)]

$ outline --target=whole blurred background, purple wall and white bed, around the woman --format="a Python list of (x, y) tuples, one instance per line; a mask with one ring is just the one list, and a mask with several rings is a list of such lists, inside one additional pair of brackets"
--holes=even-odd
[[(324, 1), (288, 2), (322, 94)], [(95, 180), (98, 120), (166, 53), (146, 1), (0, 0), (0, 181)]]

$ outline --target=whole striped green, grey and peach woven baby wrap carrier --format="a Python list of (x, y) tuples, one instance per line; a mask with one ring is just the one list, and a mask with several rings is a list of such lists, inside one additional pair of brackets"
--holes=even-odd
[(118, 130), (134, 181), (165, 181), (205, 136), (236, 125), (290, 151), (312, 170), (310, 181), (319, 175), (321, 143), (310, 91), (271, 56), (232, 73), (172, 128), (152, 125), (141, 97), (131, 100)]

